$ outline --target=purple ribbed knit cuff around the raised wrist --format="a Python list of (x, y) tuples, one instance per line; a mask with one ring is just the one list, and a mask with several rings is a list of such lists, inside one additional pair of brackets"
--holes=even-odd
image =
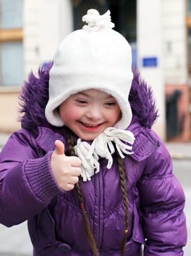
[(57, 193), (63, 192), (53, 177), (50, 158), (53, 151), (38, 159), (27, 160), (24, 165), (25, 175), (32, 192), (40, 200), (47, 202)]

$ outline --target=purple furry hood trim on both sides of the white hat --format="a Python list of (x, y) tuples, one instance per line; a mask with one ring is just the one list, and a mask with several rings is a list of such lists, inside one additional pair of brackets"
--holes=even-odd
[[(49, 72), (52, 62), (48, 63), (46, 70), (39, 68), (38, 76), (29, 74), (29, 78), (24, 82), (20, 94), (20, 114), (19, 121), (22, 128), (37, 128), (46, 126), (51, 128), (45, 117), (45, 107), (48, 102), (48, 82)], [(138, 117), (139, 123), (148, 128), (152, 127), (158, 117), (155, 100), (151, 87), (148, 87), (144, 80), (141, 80), (139, 72), (134, 73), (131, 91), (129, 93), (129, 103), (132, 109), (132, 116)]]

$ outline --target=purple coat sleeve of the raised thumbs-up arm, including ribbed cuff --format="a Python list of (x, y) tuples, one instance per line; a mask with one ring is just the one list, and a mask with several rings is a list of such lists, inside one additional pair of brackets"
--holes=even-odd
[(52, 174), (51, 154), (37, 150), (26, 130), (11, 135), (0, 153), (0, 223), (7, 227), (22, 223), (63, 192)]

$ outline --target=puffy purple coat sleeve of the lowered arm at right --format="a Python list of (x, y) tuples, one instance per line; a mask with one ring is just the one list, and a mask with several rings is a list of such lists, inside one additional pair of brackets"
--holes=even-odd
[(162, 143), (147, 160), (138, 183), (145, 231), (145, 256), (182, 256), (187, 243), (183, 188)]

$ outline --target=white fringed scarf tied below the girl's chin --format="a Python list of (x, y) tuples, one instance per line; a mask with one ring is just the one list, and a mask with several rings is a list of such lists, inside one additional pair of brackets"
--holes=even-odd
[(123, 153), (133, 154), (131, 152), (132, 146), (125, 144), (125, 142), (131, 145), (134, 143), (134, 135), (130, 131), (114, 127), (106, 128), (104, 132), (93, 140), (91, 145), (78, 139), (74, 150), (81, 160), (81, 177), (83, 177), (83, 181), (91, 179), (90, 177), (94, 175), (94, 169), (96, 169), (95, 173), (99, 172), (99, 157), (108, 159), (107, 168), (111, 168), (113, 164), (111, 154), (115, 152), (112, 142), (115, 143), (117, 151), (122, 158), (125, 157)]

